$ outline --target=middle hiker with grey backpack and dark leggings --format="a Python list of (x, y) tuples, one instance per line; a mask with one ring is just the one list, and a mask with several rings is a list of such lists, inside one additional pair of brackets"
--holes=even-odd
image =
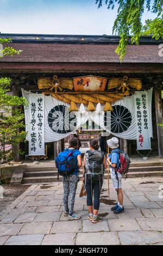
[(107, 166), (104, 153), (98, 150), (98, 140), (95, 138), (90, 139), (89, 146), (90, 150), (86, 152), (83, 160), (83, 182), (85, 182), (86, 202), (89, 210), (87, 217), (92, 223), (97, 223), (103, 221), (103, 218), (98, 216), (98, 210), (104, 170)]

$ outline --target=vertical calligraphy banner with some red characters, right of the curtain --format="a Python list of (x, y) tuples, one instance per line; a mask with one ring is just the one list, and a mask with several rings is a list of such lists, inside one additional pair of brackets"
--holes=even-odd
[(137, 150), (151, 149), (147, 92), (135, 92)]

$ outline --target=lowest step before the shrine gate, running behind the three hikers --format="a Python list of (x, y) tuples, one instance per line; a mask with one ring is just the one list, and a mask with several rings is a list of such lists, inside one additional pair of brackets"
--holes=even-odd
[[(80, 179), (82, 179), (82, 174), (79, 175)], [(104, 175), (105, 178), (108, 178), (108, 174)], [(135, 177), (147, 177), (147, 176), (163, 176), (163, 171), (158, 172), (129, 172), (128, 178), (135, 178)], [(109, 175), (110, 177), (110, 175)], [(125, 177), (125, 175), (124, 175)], [(33, 184), (33, 183), (40, 183), (40, 182), (55, 182), (58, 181), (57, 175), (50, 175), (50, 176), (34, 176), (34, 177), (24, 177), (23, 184)], [(61, 181), (61, 176), (59, 176), (59, 181)]]

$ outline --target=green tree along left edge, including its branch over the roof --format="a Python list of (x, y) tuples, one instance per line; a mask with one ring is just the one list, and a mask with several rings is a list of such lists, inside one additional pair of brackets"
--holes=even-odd
[[(11, 42), (8, 39), (0, 39), (1, 44)], [(3, 56), (14, 56), (20, 54), (20, 50), (12, 47), (3, 48)], [(0, 78), (0, 163), (10, 163), (13, 160), (11, 145), (18, 145), (25, 141), (26, 132), (24, 128), (24, 114), (21, 106), (27, 106), (23, 97), (12, 96), (10, 94), (11, 79)], [(21, 152), (20, 152), (21, 153)]]

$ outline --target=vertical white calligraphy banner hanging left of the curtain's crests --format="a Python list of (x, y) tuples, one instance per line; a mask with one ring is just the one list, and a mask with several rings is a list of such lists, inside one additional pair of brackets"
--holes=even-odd
[(29, 110), (29, 155), (45, 155), (43, 94), (29, 94)]

